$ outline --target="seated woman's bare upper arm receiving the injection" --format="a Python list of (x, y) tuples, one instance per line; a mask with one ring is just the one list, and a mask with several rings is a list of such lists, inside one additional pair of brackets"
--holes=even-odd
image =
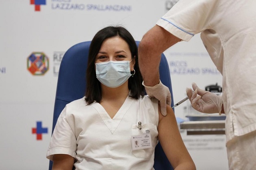
[(167, 115), (163, 116), (158, 104), (158, 139), (165, 155), (175, 170), (195, 170), (195, 164), (180, 136), (173, 110), (167, 105)]

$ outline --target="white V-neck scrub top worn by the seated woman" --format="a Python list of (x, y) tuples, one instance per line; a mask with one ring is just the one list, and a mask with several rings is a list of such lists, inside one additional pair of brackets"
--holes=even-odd
[[(87, 105), (84, 98), (78, 99), (61, 112), (47, 158), (71, 155), (77, 170), (152, 170), (157, 126), (158, 100), (148, 96), (127, 97), (113, 119), (99, 103)], [(131, 137), (146, 131), (150, 131), (152, 148), (132, 151)]]

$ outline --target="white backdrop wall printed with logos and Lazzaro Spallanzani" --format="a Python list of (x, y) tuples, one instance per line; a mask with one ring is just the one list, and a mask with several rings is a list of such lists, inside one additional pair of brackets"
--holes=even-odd
[[(72, 45), (89, 41), (108, 25), (126, 27), (140, 41), (177, 0), (6, 0), (0, 5), (0, 169), (46, 170), (46, 151), (59, 65)], [(35, 5), (38, 4), (38, 5)], [(36, 11), (37, 10), (37, 11)], [(46, 72), (34, 75), (31, 54), (45, 54)], [(165, 52), (174, 103), (186, 97), (186, 87), (196, 82), (204, 88), (221, 84), (199, 35)], [(186, 119), (183, 103), (176, 117)], [(41, 126), (41, 127), (40, 127)], [(37, 132), (40, 134), (34, 133)], [(225, 136), (182, 138), (198, 170), (226, 170)], [(208, 139), (208, 141), (204, 140)], [(195, 143), (200, 143), (195, 147)]]

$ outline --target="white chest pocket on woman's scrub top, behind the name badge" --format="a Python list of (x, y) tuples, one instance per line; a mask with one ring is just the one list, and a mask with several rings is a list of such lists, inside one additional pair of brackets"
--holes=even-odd
[(143, 133), (150, 133), (152, 148), (132, 150), (132, 154), (137, 158), (150, 159), (158, 141), (158, 131), (156, 125), (152, 123), (142, 124), (141, 129), (138, 128), (138, 125), (132, 125), (132, 136), (141, 135)]

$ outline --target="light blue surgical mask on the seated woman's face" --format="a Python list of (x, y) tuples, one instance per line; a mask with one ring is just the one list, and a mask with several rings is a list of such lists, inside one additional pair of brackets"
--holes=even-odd
[(121, 86), (131, 76), (130, 61), (98, 62), (96, 77), (105, 86), (115, 88)]

